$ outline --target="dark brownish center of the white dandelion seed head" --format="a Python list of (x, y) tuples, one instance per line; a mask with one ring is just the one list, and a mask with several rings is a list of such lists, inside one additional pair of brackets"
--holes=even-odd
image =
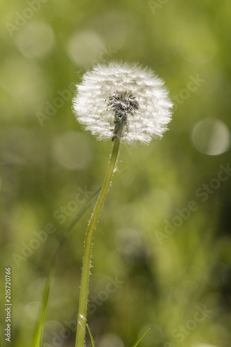
[(135, 96), (132, 96), (131, 92), (115, 92), (109, 97), (108, 106), (115, 111), (117, 117), (122, 117), (138, 110), (139, 103), (135, 99)]

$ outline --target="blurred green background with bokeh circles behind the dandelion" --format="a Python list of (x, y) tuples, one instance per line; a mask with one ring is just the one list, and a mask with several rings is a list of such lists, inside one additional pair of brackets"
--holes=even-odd
[[(230, 162), (230, 14), (228, 0), (1, 1), (2, 346), (9, 346), (5, 267), (12, 271), (10, 344), (31, 346), (55, 250), (103, 182), (112, 143), (85, 132), (71, 98), (87, 69), (110, 60), (153, 68), (175, 108), (161, 141), (121, 146), (94, 237), (88, 323), (96, 346), (132, 346), (148, 327), (141, 347), (230, 346), (231, 178), (217, 179)], [(73, 208), (81, 189), (87, 194)], [(182, 220), (190, 201), (194, 211), (183, 210)], [(55, 218), (61, 207), (68, 216)], [(46, 347), (74, 346), (92, 207), (58, 257)], [(35, 232), (49, 223), (55, 231), (40, 241)], [(179, 226), (167, 235), (166, 223)], [(198, 307), (207, 310), (200, 322)]]

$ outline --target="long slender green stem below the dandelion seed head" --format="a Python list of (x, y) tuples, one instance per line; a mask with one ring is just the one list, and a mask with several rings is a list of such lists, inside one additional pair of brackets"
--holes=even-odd
[(83, 254), (83, 270), (80, 284), (80, 298), (78, 305), (78, 322), (77, 322), (77, 332), (76, 332), (76, 347), (84, 347), (85, 342), (85, 326), (86, 326), (86, 316), (87, 316), (87, 296), (89, 288), (89, 271), (91, 264), (91, 253), (92, 253), (92, 238), (94, 230), (96, 228), (96, 223), (98, 222), (99, 215), (103, 208), (103, 203), (108, 194), (108, 189), (112, 180), (112, 175), (114, 172), (114, 167), (117, 162), (117, 155), (119, 153), (120, 138), (117, 136), (114, 139), (114, 146), (112, 149), (112, 155), (110, 162), (108, 164), (108, 170), (106, 172), (103, 186), (99, 194), (99, 198), (95, 205), (92, 217), (89, 221), (87, 227), (87, 232), (85, 236), (85, 249)]

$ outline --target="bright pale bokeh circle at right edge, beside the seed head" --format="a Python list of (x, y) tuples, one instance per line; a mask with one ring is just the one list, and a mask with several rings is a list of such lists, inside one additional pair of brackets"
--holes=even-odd
[(194, 147), (207, 155), (219, 155), (230, 149), (230, 131), (219, 119), (199, 121), (191, 135)]

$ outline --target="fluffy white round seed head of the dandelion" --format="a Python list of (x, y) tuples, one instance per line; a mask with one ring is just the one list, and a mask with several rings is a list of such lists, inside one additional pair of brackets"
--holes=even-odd
[(171, 120), (172, 103), (164, 81), (137, 64), (96, 65), (77, 85), (74, 112), (99, 139), (145, 142), (162, 137)]

